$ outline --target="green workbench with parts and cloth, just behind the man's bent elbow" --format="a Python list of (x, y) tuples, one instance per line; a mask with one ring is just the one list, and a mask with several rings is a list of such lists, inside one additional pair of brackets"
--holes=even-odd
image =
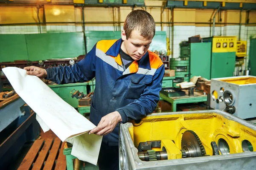
[(195, 103), (195, 102), (206, 102), (207, 95), (204, 95), (202, 92), (195, 91), (194, 96), (188, 95), (188, 90), (185, 91), (185, 96), (178, 96), (178, 97), (168, 97), (160, 92), (160, 98), (172, 104), (172, 111), (177, 111), (177, 104), (184, 104), (184, 103)]

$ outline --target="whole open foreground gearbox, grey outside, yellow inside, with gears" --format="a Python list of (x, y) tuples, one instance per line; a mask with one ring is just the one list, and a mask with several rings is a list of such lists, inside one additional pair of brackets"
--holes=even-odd
[(254, 169), (256, 127), (224, 111), (151, 113), (119, 128), (120, 170)]

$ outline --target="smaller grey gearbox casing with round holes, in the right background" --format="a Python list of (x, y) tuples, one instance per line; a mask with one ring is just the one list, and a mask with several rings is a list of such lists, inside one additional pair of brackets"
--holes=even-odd
[(239, 76), (211, 79), (210, 107), (224, 110), (235, 107), (234, 116), (256, 117), (256, 77)]

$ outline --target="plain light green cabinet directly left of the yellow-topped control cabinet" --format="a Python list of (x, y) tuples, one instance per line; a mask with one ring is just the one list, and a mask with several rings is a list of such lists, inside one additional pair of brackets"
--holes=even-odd
[(201, 76), (210, 79), (211, 45), (210, 42), (190, 43), (190, 78)]

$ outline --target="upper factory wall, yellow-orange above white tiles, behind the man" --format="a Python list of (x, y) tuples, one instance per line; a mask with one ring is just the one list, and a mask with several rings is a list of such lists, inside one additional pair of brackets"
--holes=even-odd
[[(180, 42), (188, 40), (188, 37), (200, 34), (201, 37), (210, 37), (212, 35), (212, 25), (207, 22), (212, 21), (215, 13), (213, 9), (177, 9), (173, 12), (171, 9), (161, 7), (150, 7), (150, 5), (161, 6), (162, 1), (151, 3), (145, 0), (145, 7), (134, 9), (146, 9), (153, 17), (156, 24), (156, 31), (166, 31), (173, 44), (171, 57), (177, 58), (180, 54)], [(85, 31), (120, 31), (125, 17), (131, 12), (131, 7), (84, 7)], [(122, 12), (121, 12), (122, 11)], [(39, 17), (37, 16), (39, 12)], [(45, 18), (43, 17), (45, 12)], [(45, 21), (46, 25), (31, 25)], [(241, 40), (247, 40), (247, 51), (250, 47), (250, 38), (256, 37), (256, 12), (246, 11), (241, 13), (241, 23), (246, 23), (249, 19), (249, 25), (242, 24)], [(63, 22), (54, 24), (54, 22)], [(67, 23), (69, 22), (69, 23)], [(76, 23), (75, 23), (76, 22)], [(80, 22), (80, 23), (79, 23)], [(9, 26), (0, 26), (0, 34), (39, 34), (47, 32), (80, 32), (82, 31), (82, 9), (74, 6), (44, 5), (37, 11), (36, 7), (23, 6), (0, 6), (0, 24), (12, 24)], [(111, 22), (111, 23), (107, 23)], [(117, 23), (112, 23), (117, 22)], [(168, 22), (174, 22), (167, 24)], [(215, 36), (238, 36), (240, 11), (226, 10), (216, 15)], [(28, 23), (17, 25), (17, 23)], [(232, 23), (232, 24), (228, 24)], [(172, 30), (173, 28), (173, 30)]]

